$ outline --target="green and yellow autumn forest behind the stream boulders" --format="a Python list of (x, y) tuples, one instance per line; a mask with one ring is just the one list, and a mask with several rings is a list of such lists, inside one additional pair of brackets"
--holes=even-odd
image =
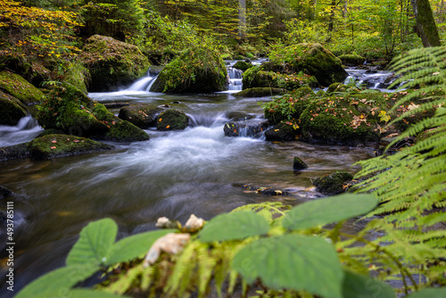
[[(62, 71), (85, 38), (100, 34), (138, 46), (156, 64), (200, 43), (224, 58), (320, 43), (335, 55), (390, 60), (423, 46), (411, 2), (423, 1), (0, 0), (0, 57), (39, 60)], [(446, 1), (428, 3), (444, 41)]]

